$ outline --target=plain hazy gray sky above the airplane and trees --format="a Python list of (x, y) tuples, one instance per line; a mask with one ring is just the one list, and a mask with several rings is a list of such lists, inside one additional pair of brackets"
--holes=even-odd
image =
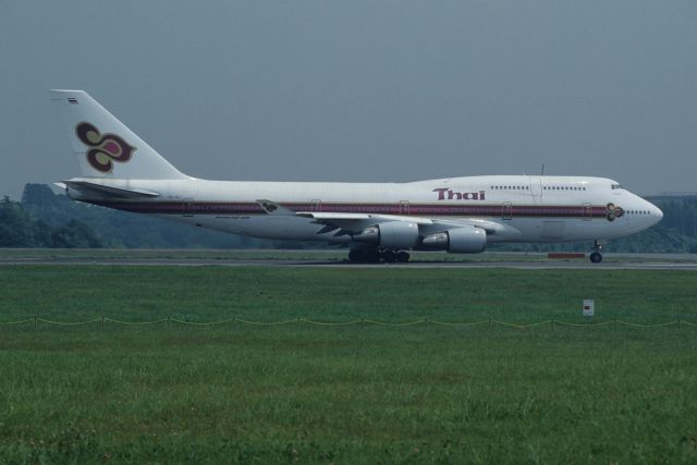
[(198, 178), (697, 191), (697, 2), (0, 0), (0, 195), (77, 174), (82, 88)]

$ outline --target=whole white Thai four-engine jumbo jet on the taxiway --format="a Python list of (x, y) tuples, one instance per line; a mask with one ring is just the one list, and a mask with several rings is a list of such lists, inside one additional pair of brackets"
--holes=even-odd
[(606, 241), (663, 217), (616, 181), (487, 175), (403, 183), (209, 181), (179, 171), (83, 90), (49, 90), (81, 176), (74, 200), (261, 238), (320, 241), (358, 262), (411, 250), (480, 253), (489, 244)]

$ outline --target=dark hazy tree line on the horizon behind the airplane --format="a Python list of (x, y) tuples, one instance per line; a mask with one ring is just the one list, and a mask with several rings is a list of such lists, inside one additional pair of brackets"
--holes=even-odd
[[(663, 220), (610, 241), (608, 252), (697, 253), (697, 196), (651, 197)], [(26, 184), (21, 201), (0, 200), (0, 247), (303, 248), (321, 243), (264, 241), (112, 210)], [(587, 250), (589, 243), (492, 245), (503, 250)]]

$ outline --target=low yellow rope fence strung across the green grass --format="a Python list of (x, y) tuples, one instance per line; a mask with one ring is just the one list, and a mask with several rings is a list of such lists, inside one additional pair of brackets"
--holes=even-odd
[(658, 327), (676, 326), (678, 329), (683, 326), (697, 327), (697, 323), (682, 320), (682, 319), (664, 321), (659, 323), (636, 323), (636, 322), (623, 321), (617, 319), (608, 320), (608, 321), (598, 321), (598, 322), (588, 321), (584, 323), (573, 323), (573, 322), (553, 319), (553, 318), (548, 320), (537, 321), (537, 322), (530, 322), (530, 323), (514, 323), (514, 322), (497, 320), (493, 318), (479, 320), (479, 321), (470, 321), (470, 322), (439, 321), (430, 318), (421, 318), (414, 321), (390, 322), (390, 321), (370, 320), (367, 318), (360, 318), (360, 319), (351, 320), (351, 321), (317, 321), (317, 320), (311, 320), (307, 318), (293, 318), (293, 319), (280, 320), (280, 321), (252, 321), (252, 320), (246, 320), (246, 319), (236, 318), (236, 317), (228, 318), (224, 320), (217, 320), (217, 321), (187, 321), (187, 320), (182, 320), (173, 317), (160, 318), (152, 321), (123, 321), (123, 320), (117, 320), (109, 317), (99, 317), (99, 318), (94, 318), (85, 321), (54, 321), (54, 320), (48, 320), (41, 317), (26, 318), (17, 321), (0, 321), (0, 326), (20, 326), (20, 325), (32, 325), (32, 323), (34, 325), (35, 330), (39, 329), (40, 323), (62, 326), (62, 327), (76, 327), (76, 326), (99, 323), (99, 327), (102, 331), (105, 330), (105, 327), (107, 326), (107, 323), (121, 325), (121, 326), (148, 326), (148, 325), (166, 323), (168, 325), (168, 327), (171, 327), (172, 325), (196, 326), (196, 327), (210, 327), (210, 326), (221, 326), (221, 325), (229, 325), (229, 326), (248, 325), (248, 326), (257, 326), (257, 327), (271, 327), (271, 326), (281, 326), (281, 325), (308, 325), (308, 326), (321, 326), (321, 327), (355, 326), (355, 327), (360, 327), (362, 329), (365, 329), (368, 326), (399, 328), (399, 327), (414, 327), (417, 325), (421, 325), (426, 329), (428, 329), (429, 325), (440, 326), (440, 327), (451, 327), (451, 328), (456, 328), (456, 327), (466, 328), (466, 327), (476, 327), (476, 326), (486, 325), (488, 326), (489, 329), (491, 329), (492, 326), (500, 326), (500, 327), (515, 328), (515, 329), (522, 329), (522, 330), (527, 328), (540, 327), (540, 326), (549, 326), (552, 331), (554, 330), (555, 326), (572, 327), (572, 328), (602, 327), (608, 325), (613, 325), (614, 327), (625, 326), (625, 327), (635, 327), (635, 328), (658, 328)]

